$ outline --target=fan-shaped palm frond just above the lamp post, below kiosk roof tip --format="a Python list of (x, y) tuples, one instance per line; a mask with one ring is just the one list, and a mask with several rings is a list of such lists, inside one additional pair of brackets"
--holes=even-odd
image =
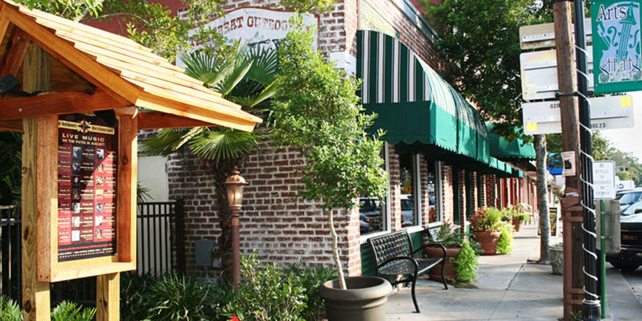
[(196, 156), (209, 160), (238, 158), (256, 149), (262, 137), (239, 130), (205, 130), (189, 142)]

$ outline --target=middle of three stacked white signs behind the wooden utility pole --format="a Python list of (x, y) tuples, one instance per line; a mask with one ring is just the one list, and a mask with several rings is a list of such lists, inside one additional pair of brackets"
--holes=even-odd
[[(593, 56), (591, 46), (587, 48), (588, 87), (593, 87)], [(524, 100), (555, 98), (558, 85), (558, 59), (555, 50), (523, 52), (519, 55), (521, 69), (522, 97)]]

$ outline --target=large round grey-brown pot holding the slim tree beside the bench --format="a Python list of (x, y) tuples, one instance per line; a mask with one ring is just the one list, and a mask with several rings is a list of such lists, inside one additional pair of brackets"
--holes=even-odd
[(338, 279), (319, 288), (325, 300), (328, 321), (385, 321), (388, 295), (392, 286), (377, 276), (345, 278), (348, 290), (339, 288)]

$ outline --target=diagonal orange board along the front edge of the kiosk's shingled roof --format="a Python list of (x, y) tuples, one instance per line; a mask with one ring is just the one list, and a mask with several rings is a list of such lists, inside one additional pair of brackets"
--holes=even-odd
[(16, 8), (4, 6), (3, 13), (6, 14), (10, 22), (13, 22), (16, 27), (27, 33), (31, 42), (42, 47), (52, 57), (61, 61), (61, 63), (84, 77), (84, 79), (89, 80), (89, 82), (105, 91), (112, 98), (119, 100), (121, 104), (131, 105), (136, 101), (140, 93), (138, 87), (98, 64), (87, 54), (73, 47), (67, 40), (54, 35), (52, 31), (40, 26), (31, 17), (19, 13)]

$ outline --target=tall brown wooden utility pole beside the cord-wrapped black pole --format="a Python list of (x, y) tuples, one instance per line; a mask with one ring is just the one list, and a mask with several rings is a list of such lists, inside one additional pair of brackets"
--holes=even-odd
[[(572, 94), (577, 90), (574, 45), (571, 33), (571, 3), (557, 1), (553, 4), (555, 19), (555, 47), (558, 60), (558, 84), (560, 93)], [(565, 194), (562, 200), (564, 218), (564, 320), (571, 320), (571, 312), (581, 311), (583, 296), (583, 251), (582, 208), (580, 181), (581, 164), (578, 161), (579, 116), (577, 98), (560, 97), (562, 117), (562, 144), (564, 151), (574, 151), (576, 175), (566, 177)]]

